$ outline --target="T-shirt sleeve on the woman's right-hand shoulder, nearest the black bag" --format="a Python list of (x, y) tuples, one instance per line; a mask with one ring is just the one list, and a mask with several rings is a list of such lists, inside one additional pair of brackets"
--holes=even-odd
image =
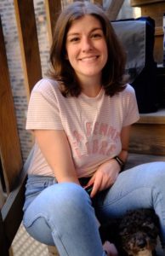
[(122, 126), (132, 125), (139, 120), (139, 109), (136, 101), (134, 88), (129, 84), (127, 87), (127, 104), (125, 104), (125, 117), (123, 119)]

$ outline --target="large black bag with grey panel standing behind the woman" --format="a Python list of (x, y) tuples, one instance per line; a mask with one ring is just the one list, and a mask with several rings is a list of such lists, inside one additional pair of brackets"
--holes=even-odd
[(156, 112), (155, 20), (140, 17), (111, 21), (111, 25), (127, 52), (126, 73), (136, 93), (139, 113)]

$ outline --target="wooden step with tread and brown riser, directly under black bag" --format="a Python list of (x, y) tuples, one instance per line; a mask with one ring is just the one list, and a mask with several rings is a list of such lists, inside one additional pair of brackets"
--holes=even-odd
[(139, 121), (132, 128), (130, 151), (165, 155), (165, 109), (140, 114)]

